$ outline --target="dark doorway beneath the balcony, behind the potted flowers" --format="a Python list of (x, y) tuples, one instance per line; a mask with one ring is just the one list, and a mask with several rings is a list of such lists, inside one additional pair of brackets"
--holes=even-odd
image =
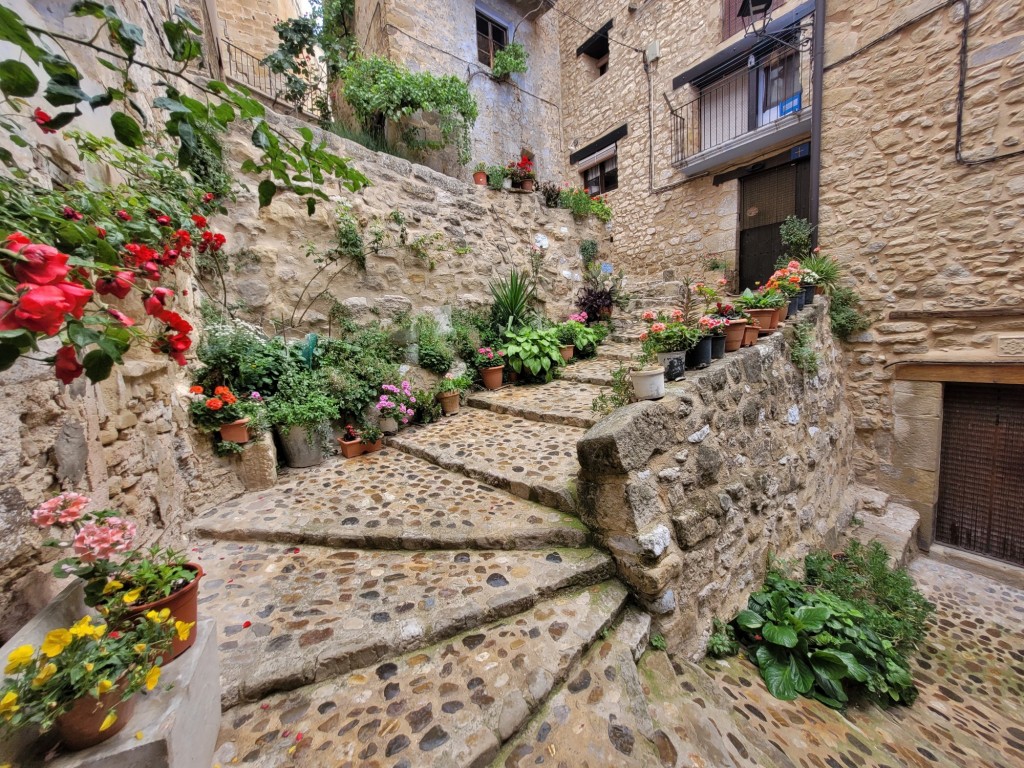
[(810, 215), (810, 163), (753, 173), (739, 180), (739, 289), (755, 288), (782, 255), (778, 227), (787, 216)]

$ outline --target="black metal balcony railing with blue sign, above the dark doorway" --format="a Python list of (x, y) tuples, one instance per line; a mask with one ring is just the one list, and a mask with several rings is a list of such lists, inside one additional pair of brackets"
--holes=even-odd
[[(753, 66), (752, 66), (753, 65)], [(750, 133), (792, 116), (810, 114), (810, 56), (776, 48), (744, 59), (717, 80), (691, 84), (696, 95), (671, 108), (672, 162), (725, 148)]]

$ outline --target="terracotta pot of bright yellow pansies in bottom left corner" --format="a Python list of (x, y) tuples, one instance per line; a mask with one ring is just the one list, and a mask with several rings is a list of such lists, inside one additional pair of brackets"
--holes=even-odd
[(48, 632), (39, 648), (22, 645), (7, 656), (0, 733), (54, 730), (68, 750), (84, 750), (128, 724), (134, 695), (160, 684), (161, 666), (179, 631), (160, 613), (117, 631), (94, 622), (85, 615)]

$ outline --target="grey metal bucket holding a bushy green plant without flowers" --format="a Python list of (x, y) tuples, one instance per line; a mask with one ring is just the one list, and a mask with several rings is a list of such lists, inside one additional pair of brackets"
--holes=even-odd
[(267, 417), (281, 437), (289, 467), (312, 467), (324, 461), (331, 419), (338, 415), (338, 402), (327, 394), (327, 387), (322, 374), (297, 369), (279, 380), (278, 393), (266, 400)]

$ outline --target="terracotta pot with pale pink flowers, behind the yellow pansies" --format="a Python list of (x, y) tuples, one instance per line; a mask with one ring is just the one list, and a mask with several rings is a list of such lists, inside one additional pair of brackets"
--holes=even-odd
[[(86, 512), (90, 502), (80, 494), (65, 493), (33, 511), (32, 521), (54, 534), (46, 546), (74, 553), (54, 563), (53, 574), (84, 581), (85, 604), (119, 629), (123, 622), (167, 609), (183, 635), (174, 640), (167, 660), (177, 657), (195, 642), (184, 629), (197, 621), (202, 566), (172, 549), (131, 549), (135, 524), (112, 509)], [(70, 541), (62, 536), (70, 536)], [(122, 554), (125, 557), (119, 561)]]

